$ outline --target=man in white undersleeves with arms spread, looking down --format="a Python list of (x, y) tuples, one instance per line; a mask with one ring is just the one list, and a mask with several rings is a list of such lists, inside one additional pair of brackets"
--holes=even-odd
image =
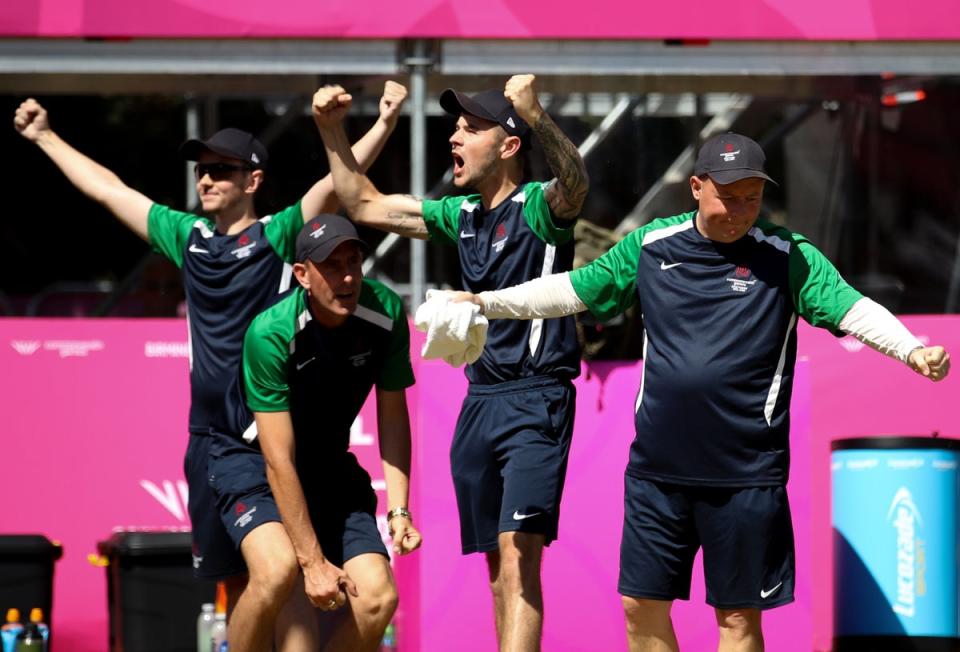
[(806, 238), (758, 219), (767, 181), (757, 143), (714, 137), (690, 178), (698, 210), (654, 220), (569, 274), (458, 297), (488, 318), (642, 313), (618, 587), (631, 650), (677, 649), (670, 608), (689, 598), (701, 547), (720, 650), (762, 650), (762, 610), (793, 600), (785, 487), (798, 317), (931, 380), (949, 370), (942, 347), (924, 347)]

